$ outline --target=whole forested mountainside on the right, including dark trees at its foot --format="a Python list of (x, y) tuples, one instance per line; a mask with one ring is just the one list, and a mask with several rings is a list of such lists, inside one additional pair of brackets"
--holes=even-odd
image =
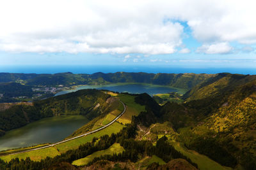
[(185, 103), (166, 103), (158, 112), (149, 108), (135, 120), (150, 128), (168, 121), (178, 132), (172, 138), (189, 149), (224, 166), (255, 169), (255, 96), (255, 76), (221, 73), (189, 90)]

